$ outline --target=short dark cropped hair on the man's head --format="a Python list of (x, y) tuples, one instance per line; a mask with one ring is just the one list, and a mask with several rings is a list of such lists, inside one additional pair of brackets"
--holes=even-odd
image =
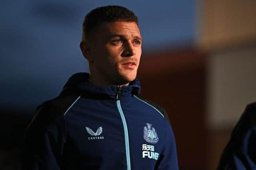
[(135, 22), (138, 25), (138, 17), (131, 10), (117, 5), (102, 6), (93, 9), (84, 17), (83, 29), (82, 29), (82, 41), (86, 38), (90, 38), (90, 35), (94, 33), (103, 22)]

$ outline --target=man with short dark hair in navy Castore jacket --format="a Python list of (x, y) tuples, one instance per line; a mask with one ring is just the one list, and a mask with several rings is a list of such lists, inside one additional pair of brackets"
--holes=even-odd
[(164, 109), (138, 98), (142, 37), (122, 6), (84, 18), (81, 51), (90, 74), (71, 76), (38, 107), (25, 136), (25, 170), (177, 170)]

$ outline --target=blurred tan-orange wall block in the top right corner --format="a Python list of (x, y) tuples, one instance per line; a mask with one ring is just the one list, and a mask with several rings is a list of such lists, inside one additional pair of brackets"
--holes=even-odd
[(216, 49), (255, 42), (255, 0), (200, 0), (199, 46)]

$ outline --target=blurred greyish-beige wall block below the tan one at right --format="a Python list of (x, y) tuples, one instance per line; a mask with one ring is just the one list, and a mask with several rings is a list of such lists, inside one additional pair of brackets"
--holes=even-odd
[(208, 61), (208, 125), (234, 127), (249, 103), (256, 101), (256, 46), (220, 51)]

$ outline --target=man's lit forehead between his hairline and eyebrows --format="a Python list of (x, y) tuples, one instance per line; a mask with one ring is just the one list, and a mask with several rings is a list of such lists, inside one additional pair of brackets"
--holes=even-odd
[(135, 22), (125, 21), (104, 22), (98, 27), (98, 33), (102, 37), (111, 37), (113, 35), (141, 37), (138, 25)]

